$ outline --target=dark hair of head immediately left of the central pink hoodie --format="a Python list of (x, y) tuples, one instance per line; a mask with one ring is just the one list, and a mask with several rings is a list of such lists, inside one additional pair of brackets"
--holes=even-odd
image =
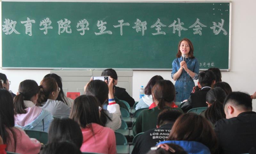
[(78, 148), (82, 146), (83, 134), (76, 121), (69, 118), (55, 118), (48, 131), (48, 144), (54, 141), (70, 141)]

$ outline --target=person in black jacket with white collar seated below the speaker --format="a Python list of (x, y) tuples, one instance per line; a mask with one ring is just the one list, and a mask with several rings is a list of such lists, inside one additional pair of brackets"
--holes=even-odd
[(201, 90), (191, 93), (188, 100), (180, 104), (180, 108), (184, 113), (187, 113), (188, 110), (192, 108), (207, 107), (207, 104), (205, 103), (206, 93), (211, 89), (213, 84), (215, 84), (215, 76), (213, 72), (210, 70), (200, 72), (197, 84)]

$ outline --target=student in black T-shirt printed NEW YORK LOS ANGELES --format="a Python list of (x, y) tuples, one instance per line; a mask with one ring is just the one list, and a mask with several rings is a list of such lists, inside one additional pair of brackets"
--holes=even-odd
[(168, 138), (172, 125), (182, 113), (171, 108), (164, 109), (157, 117), (156, 128), (150, 129), (140, 135), (132, 150), (132, 154), (145, 154), (158, 142)]

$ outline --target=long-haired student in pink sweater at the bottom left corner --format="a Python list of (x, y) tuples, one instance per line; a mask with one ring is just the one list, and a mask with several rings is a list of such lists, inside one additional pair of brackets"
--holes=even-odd
[(30, 139), (24, 130), (14, 127), (14, 110), (12, 95), (0, 89), (0, 134), (6, 151), (26, 154), (38, 154), (41, 144), (36, 139)]

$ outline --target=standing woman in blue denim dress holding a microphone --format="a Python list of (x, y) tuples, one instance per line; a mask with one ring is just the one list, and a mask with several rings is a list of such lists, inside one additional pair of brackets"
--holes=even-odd
[(193, 53), (194, 47), (191, 41), (187, 38), (180, 40), (177, 58), (172, 62), (172, 78), (176, 81), (176, 102), (188, 99), (195, 86), (193, 80), (198, 78), (199, 63)]

